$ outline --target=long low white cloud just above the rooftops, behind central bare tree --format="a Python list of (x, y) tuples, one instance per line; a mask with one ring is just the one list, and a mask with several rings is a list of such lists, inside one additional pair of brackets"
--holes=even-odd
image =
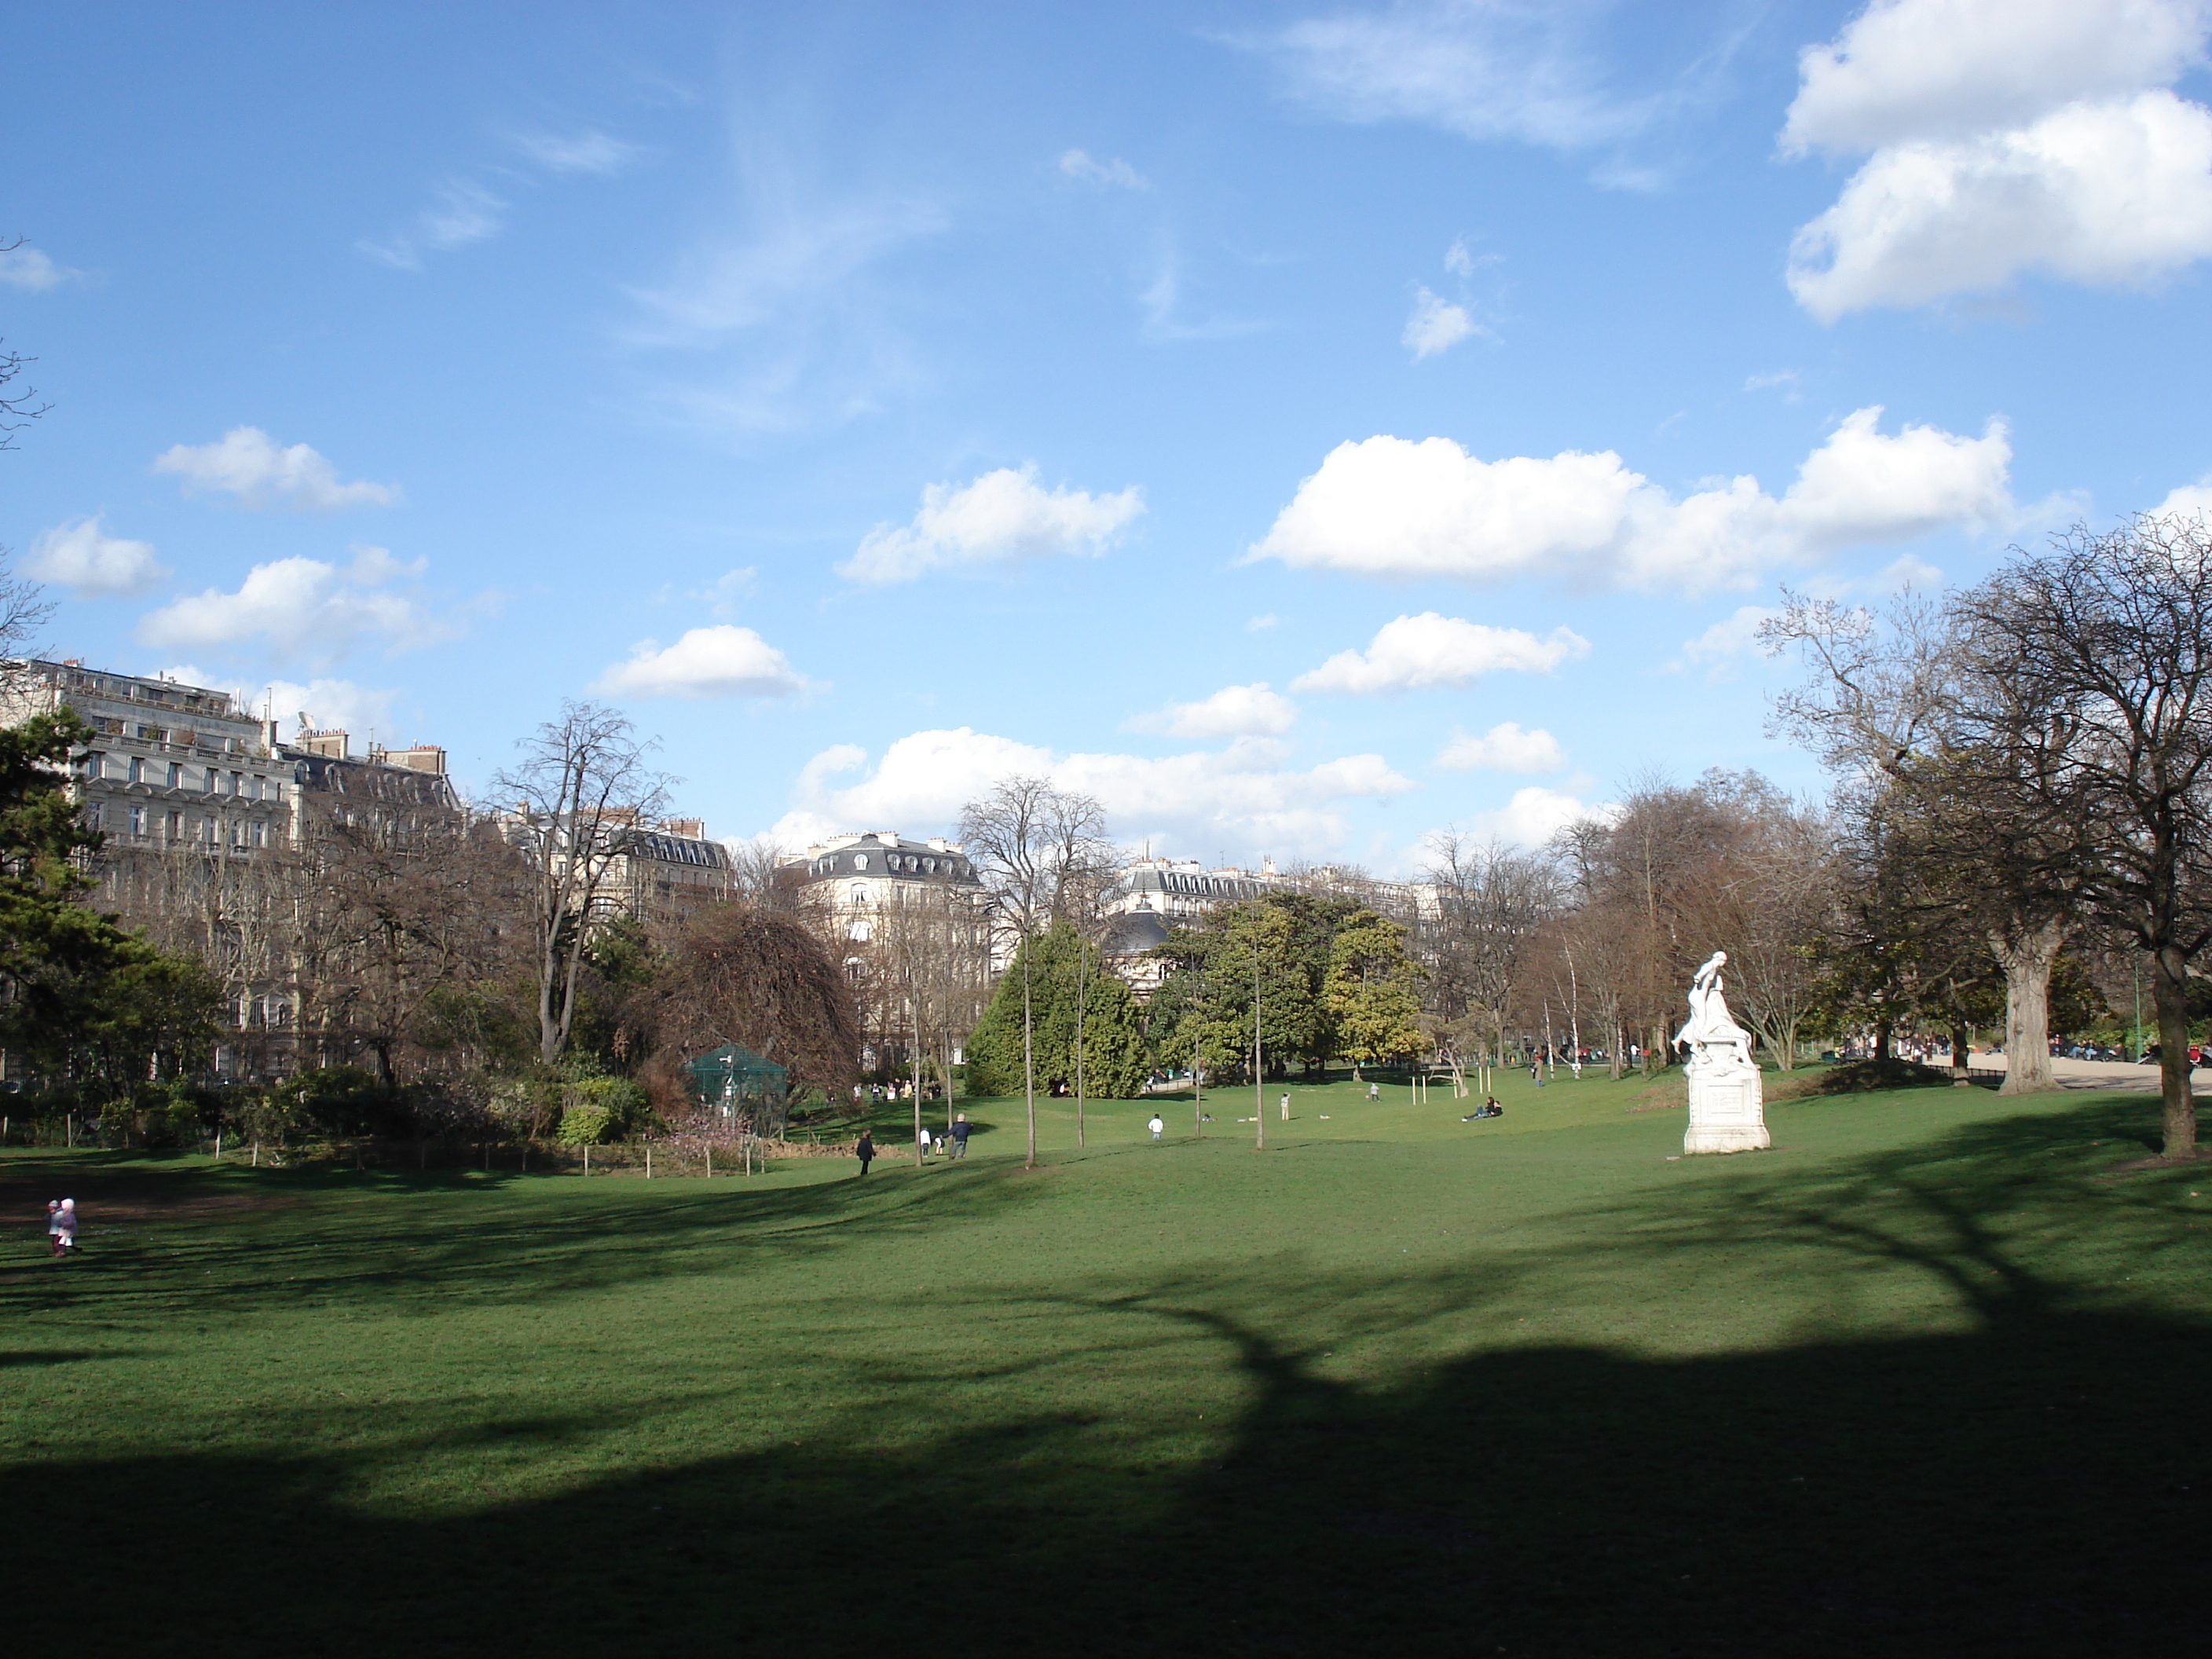
[(1219, 847), (1321, 854), (1343, 843), (1345, 803), (1418, 787), (1380, 754), (1345, 754), (1296, 770), (1274, 739), (1148, 759), (1055, 754), (967, 726), (902, 737), (872, 772), (832, 787), (832, 779), (856, 772), (865, 759), (849, 743), (816, 754), (801, 774), (794, 810), (768, 838), (801, 847), (838, 830), (936, 834), (1000, 779), (1031, 774), (1097, 796), (1121, 841), (1148, 838), (1208, 856)]

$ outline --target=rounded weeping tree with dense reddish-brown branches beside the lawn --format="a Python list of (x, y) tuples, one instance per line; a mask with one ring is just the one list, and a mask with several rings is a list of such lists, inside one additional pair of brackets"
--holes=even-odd
[(639, 1009), (653, 1068), (664, 1077), (726, 1042), (783, 1066), (790, 1102), (810, 1088), (836, 1097), (858, 1075), (860, 1013), (845, 971), (803, 918), (750, 905), (688, 916), (657, 962)]

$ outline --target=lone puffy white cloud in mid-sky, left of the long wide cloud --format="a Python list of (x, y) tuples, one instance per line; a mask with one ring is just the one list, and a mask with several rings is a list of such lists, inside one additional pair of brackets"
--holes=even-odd
[(914, 582), (929, 571), (971, 571), (1002, 560), (1053, 553), (1104, 553), (1144, 511), (1135, 484), (1115, 495), (1046, 491), (1037, 469), (1000, 467), (973, 484), (929, 484), (911, 524), (878, 524), (838, 575), (856, 582)]

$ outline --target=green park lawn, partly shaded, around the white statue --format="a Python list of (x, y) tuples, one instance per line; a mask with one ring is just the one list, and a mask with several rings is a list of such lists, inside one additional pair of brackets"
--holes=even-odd
[[(2199, 1652), (2150, 1097), (978, 1102), (757, 1179), (13, 1152), (9, 1628), (86, 1652)], [(900, 1108), (878, 1115), (898, 1139)], [(80, 1261), (42, 1259), (71, 1192)], [(2201, 1197), (2199, 1197), (2201, 1194)], [(675, 1646), (668, 1646), (675, 1644)]]

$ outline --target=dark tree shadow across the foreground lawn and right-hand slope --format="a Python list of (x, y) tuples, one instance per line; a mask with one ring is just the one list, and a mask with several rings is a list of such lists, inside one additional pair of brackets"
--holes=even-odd
[[(365, 1511), (343, 1458), (44, 1464), (0, 1475), (24, 1522), (11, 1624), (91, 1652), (228, 1655), (2201, 1652), (2212, 1329), (2026, 1265), (2028, 1243), (2101, 1228), (2150, 1250), (2185, 1228), (2148, 1186), (2093, 1188), (2081, 1133), (1978, 1124), (1812, 1188), (1739, 1166), (1728, 1203), (1659, 1188), (1615, 1206), (1571, 1263), (1674, 1252), (1697, 1272), (1714, 1248), (1812, 1248), (1936, 1276), (1962, 1329), (1690, 1358), (1515, 1347), (1363, 1389), (1276, 1329), (1356, 1285), (1188, 1276), (1099, 1305), (1230, 1356), (1250, 1407), (1201, 1464), (1175, 1460), (1166, 1422), (1102, 1455), (1073, 1409), (465, 1515)], [(1409, 1279), (1396, 1314), (1453, 1294), (1498, 1285)], [(1387, 1301), (1365, 1318), (1387, 1323)]]

